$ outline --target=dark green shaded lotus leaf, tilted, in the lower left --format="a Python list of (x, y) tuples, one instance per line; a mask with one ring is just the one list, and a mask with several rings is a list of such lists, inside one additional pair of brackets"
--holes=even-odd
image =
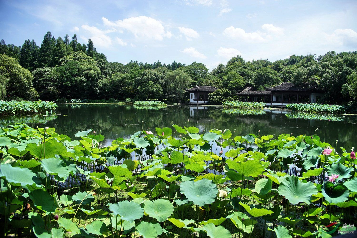
[(56, 211), (54, 198), (47, 192), (36, 189), (30, 193), (30, 198), (34, 202), (35, 207), (49, 214)]

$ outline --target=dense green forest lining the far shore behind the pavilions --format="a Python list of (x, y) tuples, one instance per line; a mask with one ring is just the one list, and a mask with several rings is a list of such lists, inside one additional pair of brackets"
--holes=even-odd
[(221, 102), (247, 86), (263, 90), (281, 82), (317, 82), (326, 90), (325, 103), (351, 105), (357, 101), (356, 71), (356, 51), (292, 55), (275, 62), (245, 61), (238, 55), (209, 72), (199, 62), (108, 62), (92, 40), (80, 44), (76, 35), (56, 39), (47, 32), (41, 46), (29, 39), (22, 46), (0, 42), (0, 99), (5, 100), (156, 98), (181, 102), (187, 98), (185, 88), (205, 85), (219, 88), (211, 98)]

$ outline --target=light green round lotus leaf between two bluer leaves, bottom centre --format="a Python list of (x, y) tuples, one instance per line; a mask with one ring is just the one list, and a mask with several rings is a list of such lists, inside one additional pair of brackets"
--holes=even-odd
[(165, 199), (157, 199), (154, 201), (144, 201), (144, 212), (149, 217), (155, 218), (158, 222), (164, 222), (174, 212), (174, 206), (170, 201)]

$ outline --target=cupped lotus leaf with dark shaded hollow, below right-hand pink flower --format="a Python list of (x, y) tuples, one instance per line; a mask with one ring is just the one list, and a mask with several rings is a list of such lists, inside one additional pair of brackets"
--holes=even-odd
[(344, 202), (348, 199), (350, 192), (342, 183), (333, 184), (331, 182), (324, 182), (321, 187), (321, 192), (325, 200), (329, 203)]

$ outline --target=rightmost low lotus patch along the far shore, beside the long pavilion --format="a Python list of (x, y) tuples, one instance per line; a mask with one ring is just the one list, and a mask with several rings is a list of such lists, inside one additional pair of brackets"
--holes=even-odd
[(318, 103), (290, 103), (286, 108), (296, 112), (342, 113), (345, 111), (344, 106)]

